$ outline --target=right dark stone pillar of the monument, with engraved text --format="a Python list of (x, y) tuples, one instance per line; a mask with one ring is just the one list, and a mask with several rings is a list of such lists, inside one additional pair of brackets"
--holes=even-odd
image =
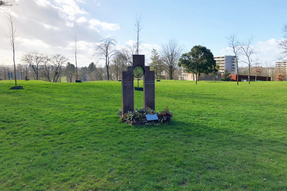
[(154, 71), (150, 71), (150, 66), (145, 66), (144, 69), (144, 108), (155, 110)]

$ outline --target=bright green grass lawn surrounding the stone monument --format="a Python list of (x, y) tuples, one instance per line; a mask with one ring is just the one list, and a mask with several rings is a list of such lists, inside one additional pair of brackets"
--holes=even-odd
[(18, 85), (0, 81), (0, 190), (287, 190), (287, 82), (156, 82), (158, 126), (118, 122), (121, 82)]

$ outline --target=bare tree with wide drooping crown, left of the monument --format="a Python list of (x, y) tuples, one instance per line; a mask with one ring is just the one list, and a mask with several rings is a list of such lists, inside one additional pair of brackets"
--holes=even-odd
[(109, 64), (111, 58), (117, 54), (115, 50), (115, 46), (117, 44), (117, 40), (113, 37), (104, 38), (100, 41), (100, 44), (96, 47), (95, 53), (93, 56), (98, 56), (99, 59), (105, 60), (106, 62), (106, 71), (107, 71), (107, 79), (109, 80)]

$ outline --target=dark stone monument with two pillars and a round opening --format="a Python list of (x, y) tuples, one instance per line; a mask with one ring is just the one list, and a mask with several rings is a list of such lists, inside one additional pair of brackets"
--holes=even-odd
[(122, 111), (123, 114), (134, 110), (133, 103), (133, 78), (143, 77), (144, 81), (144, 108), (155, 110), (154, 104), (154, 71), (150, 66), (144, 65), (145, 55), (133, 55), (131, 66), (122, 71)]

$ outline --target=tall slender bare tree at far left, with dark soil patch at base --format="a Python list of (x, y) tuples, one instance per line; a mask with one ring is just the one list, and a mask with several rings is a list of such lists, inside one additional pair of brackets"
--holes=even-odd
[(16, 34), (16, 26), (15, 26), (15, 17), (9, 13), (9, 42), (11, 49), (13, 51), (13, 62), (14, 62), (14, 78), (15, 78), (15, 88), (17, 87), (17, 79), (16, 79), (16, 64), (15, 64), (15, 50), (16, 50), (16, 45), (15, 45), (15, 38), (17, 37)]

